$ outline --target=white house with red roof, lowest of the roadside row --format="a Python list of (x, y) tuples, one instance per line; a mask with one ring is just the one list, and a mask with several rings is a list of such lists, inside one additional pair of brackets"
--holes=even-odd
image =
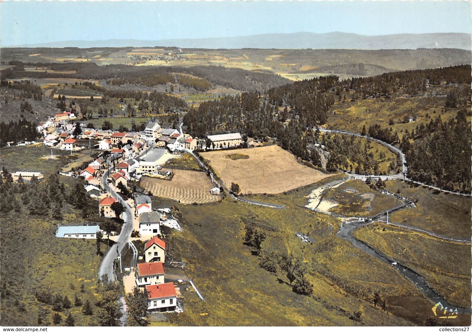
[(177, 306), (177, 291), (173, 282), (146, 286), (148, 291), (148, 311), (174, 311)]

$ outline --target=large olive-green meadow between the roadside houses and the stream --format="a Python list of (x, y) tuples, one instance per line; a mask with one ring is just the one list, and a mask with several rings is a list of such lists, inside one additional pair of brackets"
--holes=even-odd
[[(170, 315), (170, 323), (422, 325), (431, 316), (432, 303), (419, 289), (390, 266), (337, 238), (339, 219), (298, 205), (312, 187), (287, 194), (254, 195), (258, 199), (270, 196), (272, 202), (287, 204), (286, 209), (231, 199), (204, 205), (175, 204), (182, 215), (183, 232), (173, 232), (167, 238), (169, 255), (186, 263), (188, 275), (206, 301), (185, 303), (185, 312)], [(271, 273), (258, 266), (258, 258), (243, 243), (244, 225), (266, 233), (263, 255), (273, 251), (303, 258), (305, 276), (313, 285), (311, 296), (295, 294), (280, 270)], [(315, 243), (303, 243), (295, 236), (297, 231), (310, 235)], [(386, 312), (372, 304), (376, 289), (387, 300)], [(356, 311), (362, 312), (361, 322), (349, 319)], [(416, 315), (408, 314), (412, 311)]]

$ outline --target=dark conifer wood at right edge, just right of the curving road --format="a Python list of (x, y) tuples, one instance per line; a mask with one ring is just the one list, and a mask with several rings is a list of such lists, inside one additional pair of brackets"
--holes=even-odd
[(471, 192), (471, 141), (465, 111), (447, 122), (439, 116), (405, 132), (401, 148), (408, 162), (407, 176), (444, 189)]

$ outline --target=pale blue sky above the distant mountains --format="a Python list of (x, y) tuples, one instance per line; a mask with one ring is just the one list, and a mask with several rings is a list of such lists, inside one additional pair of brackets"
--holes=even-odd
[(471, 33), (467, 1), (4, 1), (0, 44), (333, 31)]

